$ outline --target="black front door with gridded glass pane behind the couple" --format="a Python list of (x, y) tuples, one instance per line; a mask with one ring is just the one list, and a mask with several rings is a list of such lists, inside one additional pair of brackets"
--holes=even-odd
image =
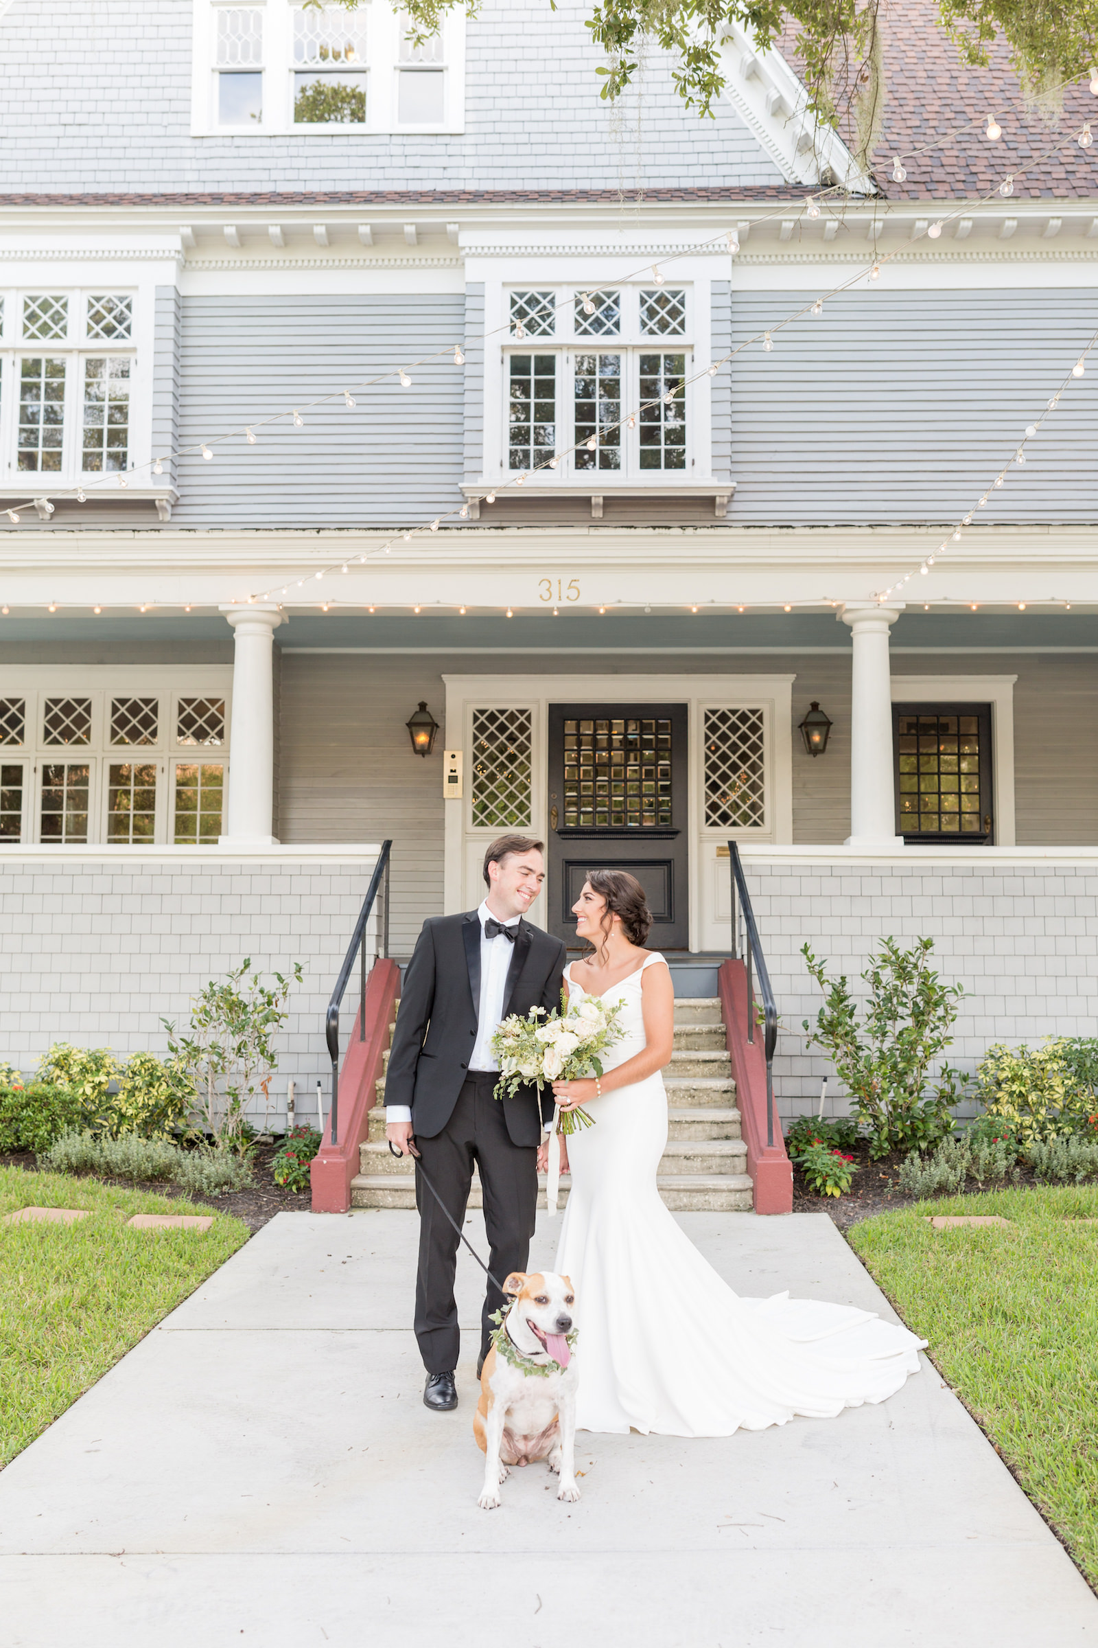
[(548, 929), (573, 948), (588, 870), (629, 870), (649, 944), (686, 949), (686, 705), (550, 704)]

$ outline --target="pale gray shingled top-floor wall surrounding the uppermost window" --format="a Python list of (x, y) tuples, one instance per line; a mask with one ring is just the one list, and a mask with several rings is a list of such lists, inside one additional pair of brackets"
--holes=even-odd
[(161, 0), (153, 28), (147, 0), (15, 0), (0, 20), (3, 186), (161, 193), (782, 181), (728, 104), (716, 105), (713, 120), (683, 109), (663, 53), (647, 53), (639, 87), (617, 107), (603, 102), (596, 68), (604, 59), (586, 16), (586, 0), (560, 0), (556, 12), (545, 0), (487, 0), (468, 30), (461, 137), (193, 138), (191, 0)]

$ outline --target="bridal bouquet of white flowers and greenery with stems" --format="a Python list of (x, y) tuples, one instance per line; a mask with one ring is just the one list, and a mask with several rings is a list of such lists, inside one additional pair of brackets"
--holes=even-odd
[[(492, 1037), (500, 1071), (495, 1098), (514, 1094), (527, 1081), (537, 1083), (540, 1093), (547, 1081), (601, 1076), (599, 1053), (624, 1033), (617, 1025), (621, 1009), (621, 1000), (604, 1007), (598, 997), (579, 995), (571, 1004), (565, 1002), (560, 1014), (547, 1015), (543, 1007), (532, 1007), (525, 1018), (520, 1014), (504, 1018)], [(591, 1126), (593, 1117), (584, 1109), (560, 1114), (560, 1131), (565, 1134)]]

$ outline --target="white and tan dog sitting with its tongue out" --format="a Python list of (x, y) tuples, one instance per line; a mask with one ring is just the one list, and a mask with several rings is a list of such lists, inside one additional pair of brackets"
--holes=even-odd
[[(512, 1300), (500, 1333), (484, 1358), (481, 1401), (472, 1434), (484, 1454), (484, 1488), (477, 1505), (492, 1511), (510, 1465), (543, 1458), (560, 1472), (558, 1500), (575, 1503), (576, 1360), (568, 1345), (576, 1302), (571, 1280), (538, 1271), (512, 1271), (504, 1282)], [(497, 1343), (505, 1337), (502, 1348)]]

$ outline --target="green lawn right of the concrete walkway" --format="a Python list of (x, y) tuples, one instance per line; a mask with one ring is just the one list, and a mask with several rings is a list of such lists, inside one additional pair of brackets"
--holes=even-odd
[[(935, 1231), (928, 1213), (998, 1213)], [(1098, 1584), (1098, 1188), (1001, 1190), (864, 1220), (854, 1251)]]

